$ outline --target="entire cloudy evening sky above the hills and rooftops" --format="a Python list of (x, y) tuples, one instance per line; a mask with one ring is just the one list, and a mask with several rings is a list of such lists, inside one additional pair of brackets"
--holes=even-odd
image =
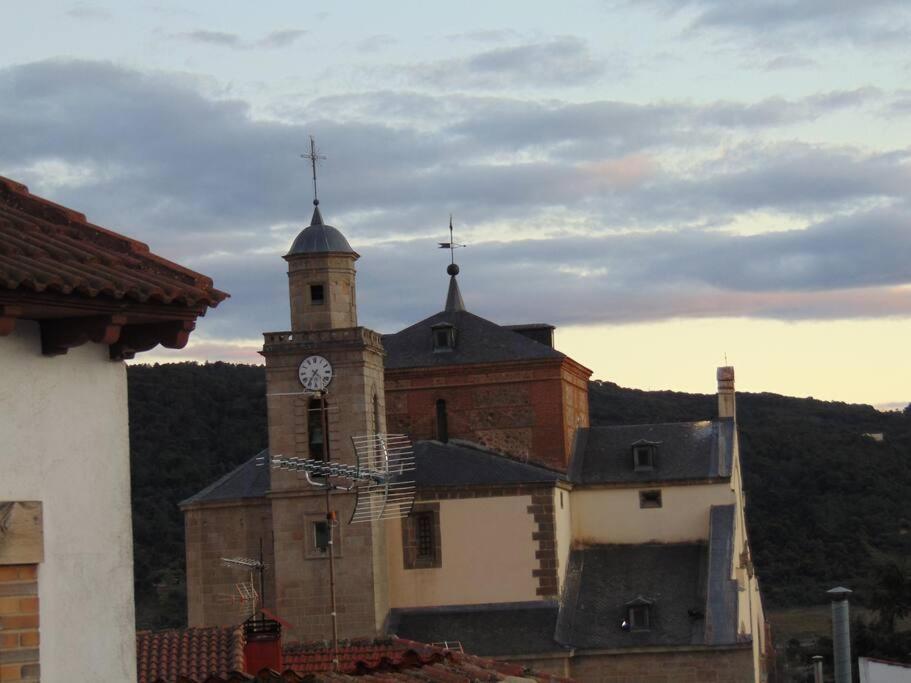
[(593, 377), (911, 402), (906, 0), (21, 3), (0, 175), (231, 298), (188, 347), (257, 362), (320, 208), (359, 322), (557, 326)]

